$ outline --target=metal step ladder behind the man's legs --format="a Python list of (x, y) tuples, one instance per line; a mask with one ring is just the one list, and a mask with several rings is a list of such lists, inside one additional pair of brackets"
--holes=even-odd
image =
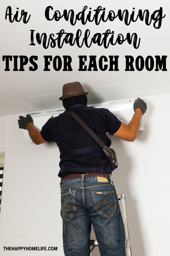
[[(126, 235), (126, 256), (132, 256), (131, 249), (130, 249), (130, 239), (129, 239), (129, 231), (127, 226), (127, 217), (126, 217), (126, 208), (125, 208), (125, 195), (117, 195), (118, 200), (121, 201), (121, 212), (122, 212), (122, 219), (125, 227), (125, 235)], [(90, 253), (93, 251), (93, 249), (98, 246), (97, 240), (90, 240), (90, 246), (93, 246), (90, 250)]]

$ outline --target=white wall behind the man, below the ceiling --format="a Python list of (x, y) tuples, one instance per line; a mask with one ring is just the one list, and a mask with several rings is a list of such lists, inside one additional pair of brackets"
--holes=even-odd
[[(117, 194), (126, 195), (132, 255), (168, 255), (170, 94), (143, 99), (148, 105), (146, 129), (135, 142), (109, 135), (119, 161), (112, 177)], [(18, 116), (0, 118), (0, 149), (6, 148), (0, 254), (35, 255), (4, 252), (3, 246), (58, 246), (50, 255), (62, 256), (59, 150), (53, 142), (28, 143), (18, 129)], [(29, 238), (16, 238), (18, 228), (29, 228)], [(96, 248), (92, 255), (98, 255)]]

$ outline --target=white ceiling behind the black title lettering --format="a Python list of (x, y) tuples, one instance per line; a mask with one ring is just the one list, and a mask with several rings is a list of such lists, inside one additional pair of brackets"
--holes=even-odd
[[(70, 25), (69, 22), (61, 19), (59, 22), (55, 20), (48, 21), (45, 19), (45, 8), (53, 6), (53, 12), (63, 9), (74, 9), (75, 13), (82, 10), (84, 5), (95, 9), (101, 5), (106, 8), (106, 13), (109, 10), (128, 9), (131, 14), (132, 8), (135, 11), (142, 9), (149, 9), (152, 13), (154, 10), (163, 7), (163, 14), (166, 17), (162, 20), (160, 29), (153, 28), (152, 25), (147, 26), (145, 22), (137, 20), (126, 26), (124, 22), (115, 19), (114, 22), (101, 22), (98, 26), (94, 22), (82, 25), (80, 21), (75, 26)], [(31, 14), (31, 18), (27, 24), (21, 22), (10, 23), (9, 19), (5, 20), (5, 12), (7, 6), (12, 7), (12, 13), (15, 14), (16, 8), (24, 9)], [(117, 1), (108, 0), (103, 6), (103, 1), (12, 1), (6, 0), (1, 4), (0, 22), (1, 22), (1, 56), (2, 55), (25, 55), (28, 58), (32, 55), (38, 56), (36, 63), (38, 69), (36, 71), (29, 71), (29, 64), (24, 66), (25, 71), (13, 71), (14, 61), (10, 61), (10, 71), (4, 71), (5, 61), (0, 62), (0, 90), (1, 90), (1, 108), (0, 115), (10, 115), (17, 113), (29, 113), (33, 111), (43, 111), (49, 109), (57, 109), (62, 107), (62, 102), (58, 100), (62, 95), (62, 86), (65, 83), (79, 81), (82, 83), (85, 91), (89, 92), (88, 104), (100, 103), (107, 101), (115, 101), (120, 99), (128, 99), (135, 97), (144, 97), (148, 95), (156, 95), (163, 93), (170, 93), (169, 86), (169, 16), (168, 16), (169, 2), (161, 1), (125, 1), (121, 3)], [(52, 13), (52, 11), (51, 11)], [(137, 12), (136, 12), (137, 13)], [(50, 33), (56, 34), (61, 29), (66, 32), (76, 34), (77, 29), (90, 30), (91, 38), (95, 33), (104, 33), (107, 29), (114, 30), (115, 37), (121, 33), (126, 37), (126, 33), (137, 33), (141, 38), (140, 46), (134, 49), (133, 44), (129, 45), (127, 41), (122, 45), (110, 45), (107, 49), (103, 46), (93, 44), (90, 48), (83, 46), (78, 48), (77, 45), (70, 46), (64, 44), (61, 49), (55, 47), (44, 49), (42, 44), (39, 45), (34, 39), (35, 46), (30, 46), (30, 29), (34, 29), (35, 33)], [(55, 71), (52, 62), (49, 66), (50, 71), (43, 71), (44, 69), (44, 55), (52, 55), (53, 58), (59, 55), (63, 61), (63, 55), (72, 57), (73, 71)], [(119, 71), (78, 71), (79, 69), (79, 55), (87, 56), (87, 67), (90, 55), (96, 55), (97, 66), (100, 56), (104, 55), (109, 60), (109, 55), (119, 55)], [(145, 59), (151, 55), (155, 60), (155, 55), (167, 55), (167, 71), (155, 71), (155, 66), (152, 71), (147, 71), (145, 68), (142, 71), (125, 71), (125, 55), (132, 55), (134, 59), (141, 55)], [(19, 58), (18, 58), (19, 59)], [(108, 61), (109, 63), (109, 61)], [(104, 63), (107, 64), (107, 63)], [(19, 67), (18, 63), (18, 69)]]

